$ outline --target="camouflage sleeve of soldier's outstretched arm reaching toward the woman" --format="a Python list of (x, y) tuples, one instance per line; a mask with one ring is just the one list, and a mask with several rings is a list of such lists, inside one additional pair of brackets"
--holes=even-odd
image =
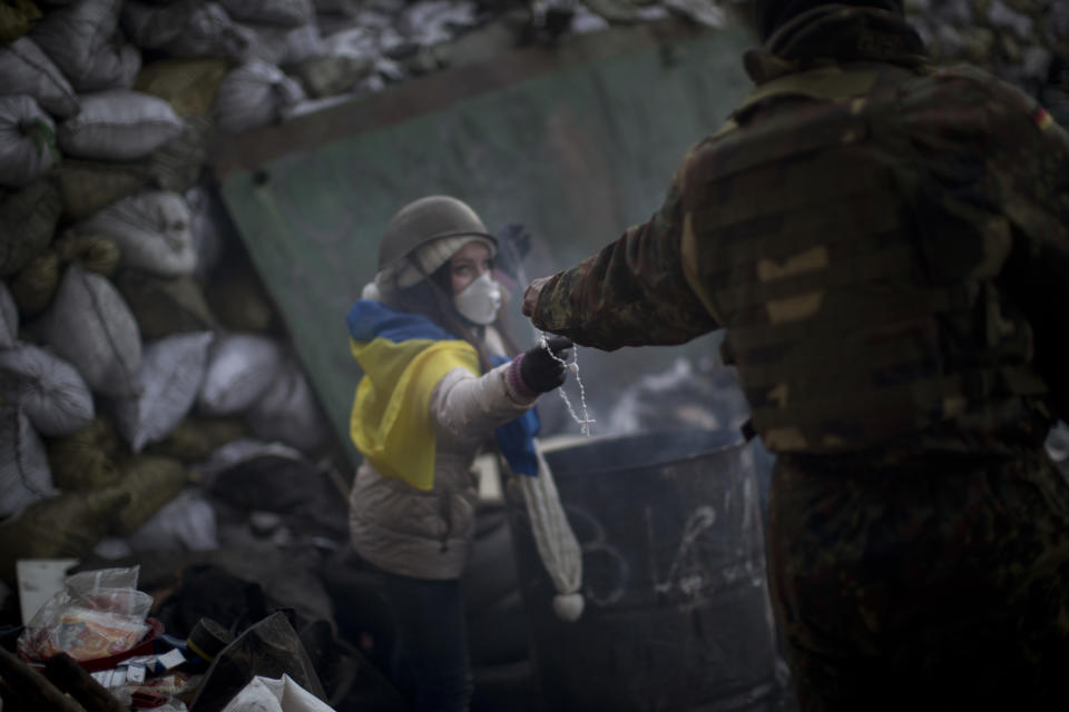
[(717, 327), (684, 277), (681, 177), (654, 216), (542, 288), (531, 320), (582, 346), (683, 344)]

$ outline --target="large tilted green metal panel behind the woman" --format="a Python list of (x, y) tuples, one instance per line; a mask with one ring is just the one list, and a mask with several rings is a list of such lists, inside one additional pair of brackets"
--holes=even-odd
[[(617, 30), (413, 80), (228, 147), (216, 161), (224, 199), (342, 442), (359, 380), (345, 315), (399, 207), (454, 195), (491, 229), (530, 228), (531, 276), (566, 267), (656, 209), (686, 149), (748, 90), (739, 57), (752, 43), (742, 30)], [(706, 337), (681, 348), (712, 350)], [(621, 378), (679, 353), (583, 349), (583, 379), (607, 403)]]

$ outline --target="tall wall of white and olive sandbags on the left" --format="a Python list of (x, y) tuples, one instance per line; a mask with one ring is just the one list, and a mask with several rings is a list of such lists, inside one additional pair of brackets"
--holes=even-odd
[[(271, 96), (252, 111), (218, 97), (257, 57), (261, 24), (296, 30), (313, 13), (225, 4), (0, 12), (4, 576), (20, 556), (81, 556), (100, 540), (209, 547), (214, 513), (192, 463), (249, 433), (315, 448), (328, 432), (303, 370), (266, 334), (276, 319), (255, 273), (214, 275), (235, 236), (203, 176), (220, 116), (258, 126), (303, 96), (274, 69), (261, 70)], [(308, 56), (300, 32), (282, 34)], [(318, 34), (303, 37), (316, 51)], [(248, 82), (235, 91), (248, 97)]]

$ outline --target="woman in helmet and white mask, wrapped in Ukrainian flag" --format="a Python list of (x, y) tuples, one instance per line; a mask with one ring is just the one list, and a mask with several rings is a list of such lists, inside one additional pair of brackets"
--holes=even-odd
[(396, 614), (390, 673), (421, 712), (470, 699), (460, 575), (474, 537), (472, 464), (496, 446), (534, 475), (531, 407), (565, 380), (571, 346), (516, 353), (498, 328), (497, 240), (465, 204), (421, 198), (389, 222), (379, 271), (349, 314), (363, 369), (350, 435), (364, 456), (350, 500), (356, 553), (384, 573)]

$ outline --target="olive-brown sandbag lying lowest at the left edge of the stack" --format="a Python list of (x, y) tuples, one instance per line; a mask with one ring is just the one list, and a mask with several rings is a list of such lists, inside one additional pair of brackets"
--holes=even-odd
[(71, 492), (36, 502), (0, 523), (0, 576), (14, 581), (19, 558), (80, 558), (108, 532), (111, 517), (130, 495), (117, 487)]

